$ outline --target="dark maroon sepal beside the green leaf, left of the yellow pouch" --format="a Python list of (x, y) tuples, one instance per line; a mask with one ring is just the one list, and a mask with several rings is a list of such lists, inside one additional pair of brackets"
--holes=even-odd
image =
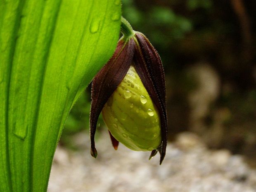
[(95, 131), (97, 120), (104, 104), (123, 80), (124, 76), (132, 63), (135, 50), (135, 42), (130, 38), (127, 42), (119, 40), (114, 55), (109, 62), (97, 73), (92, 80), (92, 102), (90, 109), (90, 140), (91, 140), (91, 155), (96, 157), (95, 149)]

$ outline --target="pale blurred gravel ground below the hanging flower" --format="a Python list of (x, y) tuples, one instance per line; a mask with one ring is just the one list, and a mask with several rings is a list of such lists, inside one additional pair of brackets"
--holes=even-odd
[(115, 151), (107, 133), (96, 140), (97, 159), (88, 134), (73, 140), (79, 151), (57, 148), (48, 192), (256, 192), (256, 170), (242, 156), (209, 150), (192, 133), (168, 144), (161, 166), (159, 154), (148, 161), (150, 152)]

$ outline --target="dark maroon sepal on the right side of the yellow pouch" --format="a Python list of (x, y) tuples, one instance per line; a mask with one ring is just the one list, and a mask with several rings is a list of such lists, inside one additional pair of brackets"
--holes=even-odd
[[(167, 145), (167, 113), (166, 113), (166, 88), (164, 68), (160, 56), (149, 40), (142, 34), (135, 34), (137, 43), (135, 48), (134, 63), (138, 75), (152, 101), (156, 105), (161, 119), (162, 142), (157, 151), (160, 154), (160, 164), (164, 160)], [(153, 150), (150, 158), (156, 155)]]

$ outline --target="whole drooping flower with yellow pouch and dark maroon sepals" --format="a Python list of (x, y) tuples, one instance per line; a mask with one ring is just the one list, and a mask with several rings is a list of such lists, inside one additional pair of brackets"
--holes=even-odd
[(121, 38), (114, 55), (92, 81), (91, 154), (102, 111), (115, 149), (121, 142), (135, 151), (158, 151), (160, 164), (167, 143), (166, 88), (161, 59), (139, 32)]

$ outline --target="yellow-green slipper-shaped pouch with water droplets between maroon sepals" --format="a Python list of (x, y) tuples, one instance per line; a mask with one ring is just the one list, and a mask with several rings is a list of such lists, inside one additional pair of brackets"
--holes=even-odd
[(135, 67), (130, 66), (102, 109), (111, 135), (135, 151), (152, 151), (161, 144), (159, 113)]

